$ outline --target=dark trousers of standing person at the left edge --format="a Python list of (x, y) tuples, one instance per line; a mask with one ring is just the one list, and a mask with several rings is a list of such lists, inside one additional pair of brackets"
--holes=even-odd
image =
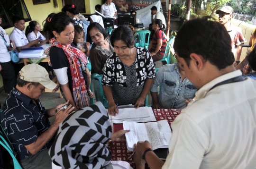
[(16, 84), (16, 73), (12, 61), (0, 63), (2, 70), (0, 74), (3, 77), (4, 91), (10, 93), (13, 86)]

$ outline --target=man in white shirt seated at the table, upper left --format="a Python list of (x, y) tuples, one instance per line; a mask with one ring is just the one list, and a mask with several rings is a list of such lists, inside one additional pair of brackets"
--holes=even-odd
[(30, 48), (36, 45), (39, 40), (28, 42), (25, 35), (25, 20), (23, 17), (13, 16), (12, 22), (14, 23), (14, 29), (10, 34), (10, 40), (16, 44), (16, 49), (21, 51), (20, 48)]

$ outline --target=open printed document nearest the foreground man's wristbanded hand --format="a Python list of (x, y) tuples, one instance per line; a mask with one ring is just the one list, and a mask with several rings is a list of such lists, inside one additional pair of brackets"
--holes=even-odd
[(124, 130), (131, 130), (125, 133), (127, 149), (133, 152), (134, 144), (138, 141), (149, 141), (153, 150), (157, 148), (168, 148), (172, 136), (171, 128), (167, 120), (149, 123), (123, 122)]

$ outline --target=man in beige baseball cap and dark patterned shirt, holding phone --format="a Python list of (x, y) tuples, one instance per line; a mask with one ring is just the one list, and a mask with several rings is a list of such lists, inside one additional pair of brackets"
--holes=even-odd
[[(24, 169), (51, 169), (48, 149), (59, 124), (74, 109), (70, 105), (67, 109), (55, 112), (67, 101), (56, 108), (45, 110), (38, 98), (45, 93), (45, 88), (52, 90), (55, 87), (45, 68), (37, 64), (26, 65), (19, 71), (17, 85), (2, 106), (1, 125)], [(51, 116), (55, 116), (52, 125), (48, 120)]]

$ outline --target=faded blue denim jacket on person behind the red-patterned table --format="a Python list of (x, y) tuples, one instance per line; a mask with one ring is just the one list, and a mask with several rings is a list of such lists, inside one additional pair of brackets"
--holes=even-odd
[(193, 99), (197, 89), (187, 78), (182, 82), (177, 63), (164, 65), (156, 73), (150, 92), (157, 92), (157, 88), (162, 84), (158, 95), (158, 101), (162, 109), (183, 109), (184, 102)]

